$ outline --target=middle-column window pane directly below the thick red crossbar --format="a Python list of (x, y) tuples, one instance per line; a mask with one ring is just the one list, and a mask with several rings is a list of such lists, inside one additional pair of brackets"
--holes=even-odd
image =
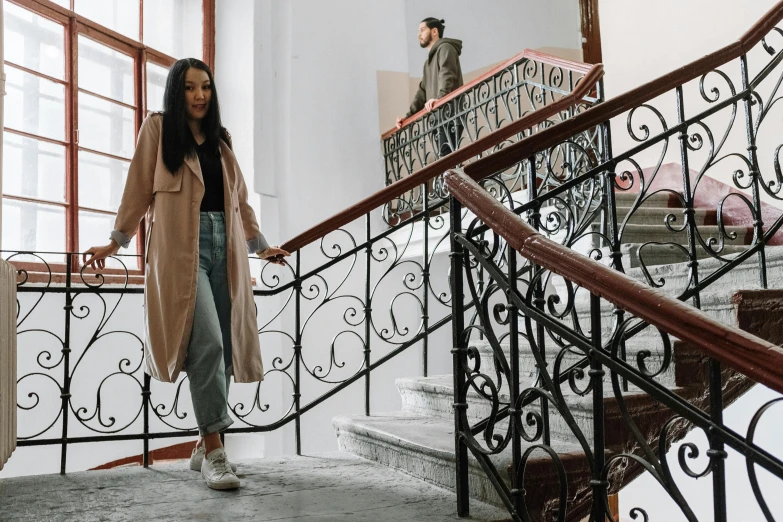
[(79, 36), (79, 87), (135, 105), (133, 58)]

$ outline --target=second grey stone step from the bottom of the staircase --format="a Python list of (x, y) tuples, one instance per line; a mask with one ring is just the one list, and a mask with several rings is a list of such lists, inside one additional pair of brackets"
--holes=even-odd
[[(397, 388), (402, 397), (402, 411), (422, 415), (424, 417), (441, 418), (443, 420), (453, 419), (454, 404), (454, 386), (451, 375), (437, 375), (433, 377), (414, 377), (397, 379)], [(481, 384), (481, 381), (476, 381)], [(528, 384), (528, 386), (530, 386)], [(576, 423), (571, 427), (558, 409), (550, 402), (549, 409), (549, 429), (553, 440), (565, 441), (569, 444), (579, 445), (577, 433), (581, 433), (589, 445), (594, 440), (593, 423), (593, 395), (589, 393), (580, 396), (571, 390), (568, 383), (563, 383), (560, 387), (563, 399), (568, 408), (568, 412), (573, 416)], [(692, 389), (675, 389), (676, 393), (688, 397), (695, 393)], [(625, 443), (630, 432), (625, 426), (617, 400), (612, 393), (611, 386), (604, 387), (604, 415), (605, 415), (605, 440), (607, 446), (619, 446)], [(631, 411), (634, 420), (640, 425), (650, 425), (652, 419), (665, 421), (671, 415), (671, 412), (662, 404), (651, 399), (646, 393), (641, 391), (628, 391), (623, 393), (626, 405)], [(499, 407), (507, 406), (509, 395), (507, 391), (502, 391), (498, 395)], [(489, 418), (492, 413), (492, 400), (483, 397), (475, 389), (468, 392), (467, 415), (471, 425)], [(536, 401), (523, 409), (522, 416), (526, 418), (529, 413), (540, 415), (542, 412), (540, 401)], [(498, 422), (495, 432), (504, 433), (508, 422)], [(529, 434), (536, 432), (538, 426), (525, 426)], [(610, 429), (611, 427), (611, 429)]]

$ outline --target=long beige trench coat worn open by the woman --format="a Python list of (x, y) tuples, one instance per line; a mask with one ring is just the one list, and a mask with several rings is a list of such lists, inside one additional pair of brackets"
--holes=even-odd
[[(182, 371), (193, 326), (204, 180), (196, 157), (186, 158), (174, 176), (166, 169), (161, 154), (162, 126), (163, 117), (152, 114), (141, 127), (112, 237), (119, 233), (127, 239), (124, 241), (127, 244), (147, 213), (144, 359), (149, 375), (175, 382)], [(247, 203), (247, 187), (234, 153), (223, 142), (220, 152), (234, 380), (256, 382), (263, 380), (264, 367), (247, 242), (259, 237), (265, 241)]]

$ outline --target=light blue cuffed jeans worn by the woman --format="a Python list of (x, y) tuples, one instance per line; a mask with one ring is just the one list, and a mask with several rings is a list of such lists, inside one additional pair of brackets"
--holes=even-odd
[(220, 432), (234, 421), (228, 414), (231, 357), (231, 299), (226, 273), (226, 218), (202, 212), (199, 224), (196, 308), (185, 372), (201, 436)]

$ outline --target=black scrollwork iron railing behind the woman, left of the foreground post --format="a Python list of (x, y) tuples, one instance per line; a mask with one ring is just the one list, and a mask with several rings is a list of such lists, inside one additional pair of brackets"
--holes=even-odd
[[(363, 381), (369, 415), (372, 371), (411, 349), (427, 373), (429, 337), (451, 319), (448, 262), (431, 268), (449, 227), (429, 209), (390, 225), (386, 206), (298, 249), (288, 267), (263, 264), (254, 294), (266, 384), (232, 386), (226, 433), (293, 423), (299, 453), (302, 416), (328, 398)], [(34, 278), (19, 270), (20, 447), (60, 445), (64, 473), (71, 444), (140, 440), (146, 466), (150, 440), (198, 434), (187, 377), (167, 386), (144, 373), (144, 289), (131, 271), (74, 271), (79, 256), (62, 253), (2, 255), (36, 269)], [(47, 264), (54, 255), (66, 259), (63, 273)], [(112, 262), (128, 260), (135, 268), (136, 256)], [(284, 386), (288, 404), (267, 398)]]

